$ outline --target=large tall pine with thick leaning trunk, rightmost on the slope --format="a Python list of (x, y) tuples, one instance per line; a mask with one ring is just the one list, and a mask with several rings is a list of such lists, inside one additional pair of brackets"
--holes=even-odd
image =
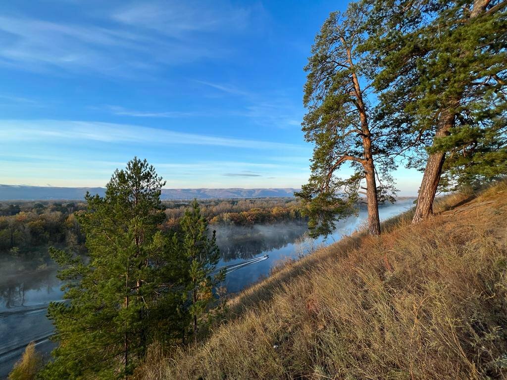
[[(489, 158), (498, 160), (489, 154), (485, 160), (484, 154), (502, 148), (490, 144), (491, 136), (505, 134), (499, 126), (505, 119), (507, 3), (363, 4), (370, 5), (370, 39), (363, 49), (370, 52), (371, 65), (378, 66), (374, 85), (382, 92), (378, 116), (394, 135), (405, 136), (409, 165), (421, 164), (420, 153), (426, 158), (413, 219), (417, 222), (432, 214), (443, 170), (449, 169), (451, 176), (474, 176), (473, 172), (488, 172), (486, 167), (495, 162)], [(428, 148), (421, 151), (425, 145)], [(458, 151), (467, 156), (465, 162), (452, 156)], [(444, 165), (446, 155), (454, 162)]]

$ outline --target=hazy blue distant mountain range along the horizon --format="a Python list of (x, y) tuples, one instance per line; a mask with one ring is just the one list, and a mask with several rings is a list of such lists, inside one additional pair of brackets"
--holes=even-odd
[[(104, 195), (103, 187), (50, 187), (0, 184), (0, 201), (43, 201), (50, 199), (82, 200), (86, 192)], [(163, 200), (212, 198), (286, 198), (294, 197), (295, 188), (164, 188)]]

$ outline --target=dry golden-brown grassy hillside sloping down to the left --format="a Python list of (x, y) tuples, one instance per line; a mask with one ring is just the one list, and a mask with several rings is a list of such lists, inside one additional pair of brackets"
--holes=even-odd
[[(288, 265), (197, 348), (144, 378), (507, 378), (507, 184), (410, 213)], [(142, 375), (141, 375), (142, 374)]]

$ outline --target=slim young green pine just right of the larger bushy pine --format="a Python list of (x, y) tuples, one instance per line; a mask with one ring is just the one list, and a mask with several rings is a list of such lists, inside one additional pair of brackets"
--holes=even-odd
[(201, 215), (197, 200), (185, 211), (180, 227), (179, 238), (174, 242), (186, 258), (186, 310), (191, 319), (194, 343), (197, 343), (199, 326), (208, 322), (206, 310), (215, 301), (213, 291), (225, 279), (225, 271), (216, 271), (220, 250), (216, 246), (215, 231), (209, 236), (208, 223)]

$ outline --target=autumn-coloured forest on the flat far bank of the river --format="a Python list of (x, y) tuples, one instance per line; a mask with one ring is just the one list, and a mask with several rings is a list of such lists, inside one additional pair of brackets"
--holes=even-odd
[[(191, 202), (163, 202), (166, 232), (179, 229)], [(83, 202), (22, 202), (0, 205), (0, 259), (12, 256), (45, 258), (49, 246), (85, 251), (86, 236), (78, 222)], [(304, 222), (294, 199), (200, 200), (201, 215), (209, 224), (252, 225)]]

